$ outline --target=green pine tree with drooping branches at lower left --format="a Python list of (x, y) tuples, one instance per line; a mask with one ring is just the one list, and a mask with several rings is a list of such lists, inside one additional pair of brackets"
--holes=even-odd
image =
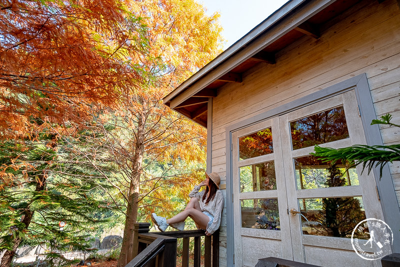
[[(84, 145), (84, 139), (76, 141)], [(107, 208), (96, 189), (106, 184), (67, 144), (51, 129), (0, 144), (0, 165), (7, 166), (0, 180), (1, 267), (24, 244), (46, 247), (51, 265), (71, 263), (61, 253), (89, 248), (90, 233), (104, 222), (93, 215)]]

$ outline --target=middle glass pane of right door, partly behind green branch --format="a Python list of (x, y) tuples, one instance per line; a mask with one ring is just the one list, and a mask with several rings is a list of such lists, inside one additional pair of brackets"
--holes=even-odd
[(341, 161), (322, 162), (314, 156), (294, 159), (297, 189), (313, 189), (359, 185), (357, 171), (352, 164)]

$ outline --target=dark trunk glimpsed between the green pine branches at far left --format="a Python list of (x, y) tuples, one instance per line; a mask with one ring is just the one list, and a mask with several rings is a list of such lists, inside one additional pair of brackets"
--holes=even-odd
[[(38, 175), (38, 177), (39, 177), (39, 180), (37, 181), (36, 188), (35, 188), (36, 192), (44, 190), (44, 187), (45, 187), (45, 184), (46, 184), (47, 174), (46, 173), (42, 173), (42, 174)], [(23, 216), (22, 222), (25, 224), (24, 228), (27, 229), (29, 224), (30, 224), (30, 221), (32, 220), (33, 211), (31, 211), (29, 209), (29, 206), (27, 206), (26, 209), (21, 212), (21, 215)], [(14, 257), (15, 252), (18, 249), (18, 246), (19, 246), (21, 241), (22, 241), (22, 239), (19, 238), (19, 237), (16, 237), (13, 240), (12, 250), (6, 250), (5, 251), (4, 255), (1, 258), (0, 267), (9, 267), (9, 266), (11, 266), (12, 258)]]

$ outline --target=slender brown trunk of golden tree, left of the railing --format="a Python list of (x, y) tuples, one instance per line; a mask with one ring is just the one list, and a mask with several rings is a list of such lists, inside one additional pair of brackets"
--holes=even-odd
[(137, 115), (138, 127), (136, 133), (136, 142), (133, 147), (134, 156), (132, 162), (132, 174), (129, 185), (129, 196), (126, 208), (125, 226), (123, 229), (123, 239), (121, 252), (119, 254), (117, 267), (125, 266), (133, 259), (133, 224), (137, 221), (137, 208), (140, 189), (140, 173), (144, 155), (144, 130), (145, 116)]

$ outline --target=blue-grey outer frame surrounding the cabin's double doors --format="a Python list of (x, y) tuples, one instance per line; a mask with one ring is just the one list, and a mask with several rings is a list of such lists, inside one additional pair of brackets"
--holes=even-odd
[[(311, 93), (307, 96), (294, 100), (290, 103), (273, 108), (266, 112), (255, 115), (233, 125), (226, 127), (226, 263), (227, 266), (234, 266), (234, 245), (233, 245), (233, 188), (232, 188), (232, 132), (259, 123), (274, 116), (283, 115), (307, 105), (319, 102), (329, 97), (354, 90), (357, 105), (361, 116), (362, 127), (365, 133), (367, 145), (382, 145), (382, 137), (378, 125), (370, 125), (376, 119), (372, 97), (368, 86), (366, 74), (360, 74), (325, 89)], [(379, 170), (373, 168), (373, 174), (380, 197), (380, 205), (384, 221), (388, 225), (397, 225), (400, 221), (400, 211), (393, 181), (389, 167), (386, 165), (382, 171), (382, 179), (379, 180)], [(388, 178), (390, 177), (390, 178)], [(381, 192), (384, 192), (383, 194)], [(393, 239), (400, 240), (400, 231), (393, 231)], [(400, 252), (400, 243), (394, 242), (391, 245), (392, 252)]]

